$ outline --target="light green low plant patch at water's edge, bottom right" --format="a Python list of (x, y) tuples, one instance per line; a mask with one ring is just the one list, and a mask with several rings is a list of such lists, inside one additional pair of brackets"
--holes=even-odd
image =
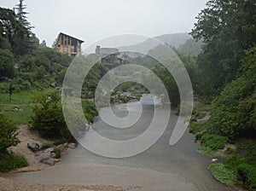
[(227, 169), (223, 164), (209, 165), (208, 169), (212, 172), (212, 176), (218, 181), (233, 186), (236, 182), (236, 172)]

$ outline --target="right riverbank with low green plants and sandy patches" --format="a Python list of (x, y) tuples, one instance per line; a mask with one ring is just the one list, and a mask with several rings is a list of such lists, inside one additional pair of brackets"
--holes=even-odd
[(195, 142), (201, 143), (201, 148), (197, 148), (198, 153), (212, 159), (212, 164), (208, 165), (207, 169), (219, 182), (234, 189), (254, 190), (256, 171), (253, 165), (248, 165), (255, 161), (253, 157), (256, 148), (254, 136), (244, 134), (230, 138), (214, 132), (211, 129), (213, 110), (212, 104), (196, 101), (189, 132), (195, 135)]

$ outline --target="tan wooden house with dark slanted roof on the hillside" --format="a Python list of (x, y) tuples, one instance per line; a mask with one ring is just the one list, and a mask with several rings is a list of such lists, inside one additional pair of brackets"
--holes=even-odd
[(67, 55), (81, 55), (81, 44), (84, 43), (83, 40), (78, 38), (73, 38), (67, 34), (60, 33), (58, 38), (55, 40), (54, 49), (58, 52)]

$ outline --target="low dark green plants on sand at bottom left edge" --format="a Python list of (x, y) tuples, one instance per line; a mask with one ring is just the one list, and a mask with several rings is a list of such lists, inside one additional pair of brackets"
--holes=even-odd
[(11, 171), (23, 168), (28, 165), (26, 158), (20, 154), (4, 153), (0, 154), (0, 171)]

